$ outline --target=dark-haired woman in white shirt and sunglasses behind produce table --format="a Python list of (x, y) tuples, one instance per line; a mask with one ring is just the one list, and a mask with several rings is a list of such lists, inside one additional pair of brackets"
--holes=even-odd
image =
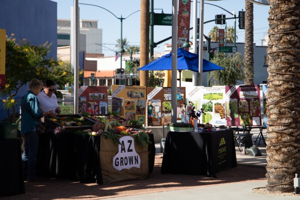
[(51, 117), (55, 117), (56, 114), (61, 113), (61, 109), (58, 106), (55, 91), (55, 83), (52, 80), (46, 80), (44, 82), (43, 91), (41, 91), (37, 98), (40, 102), (40, 108), (43, 111), (52, 110), (53, 114), (49, 114)]

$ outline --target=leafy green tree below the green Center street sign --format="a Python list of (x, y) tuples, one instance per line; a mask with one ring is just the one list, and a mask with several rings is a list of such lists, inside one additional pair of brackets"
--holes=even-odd
[(247, 65), (239, 52), (234, 54), (215, 53), (211, 60), (225, 70), (215, 70), (209, 72), (209, 79), (215, 85), (237, 85), (238, 81), (244, 80), (244, 67)]

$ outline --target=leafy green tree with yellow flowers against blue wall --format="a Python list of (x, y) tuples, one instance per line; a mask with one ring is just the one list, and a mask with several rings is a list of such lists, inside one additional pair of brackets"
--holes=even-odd
[[(13, 36), (14, 34), (6, 36), (5, 87), (0, 94), (6, 97), (2, 99), (4, 109), (12, 109), (13, 123), (16, 123), (17, 103), (14, 97), (23, 85), (33, 78), (41, 81), (52, 79), (57, 85), (71, 84), (74, 82), (74, 73), (67, 70), (63, 62), (48, 57), (51, 46), (48, 42), (35, 46), (25, 38), (17, 42)], [(79, 70), (79, 75), (82, 73), (83, 71)], [(60, 92), (56, 94), (58, 98), (62, 97)], [(9, 112), (7, 114), (9, 121)]]

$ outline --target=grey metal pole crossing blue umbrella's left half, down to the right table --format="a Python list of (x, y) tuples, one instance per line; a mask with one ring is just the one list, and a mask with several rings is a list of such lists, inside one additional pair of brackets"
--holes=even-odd
[(177, 22), (178, 22), (178, 8), (177, 0), (172, 0), (172, 91), (171, 91), (171, 122), (175, 123), (177, 115)]

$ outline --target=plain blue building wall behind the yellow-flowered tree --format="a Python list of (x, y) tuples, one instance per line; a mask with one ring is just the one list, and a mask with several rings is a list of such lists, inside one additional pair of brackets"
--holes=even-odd
[[(0, 28), (6, 29), (6, 35), (14, 34), (18, 40), (26, 38), (33, 45), (52, 43), (49, 56), (57, 57), (57, 3), (49, 0), (1, 0)], [(17, 97), (28, 90), (22, 87)], [(18, 98), (15, 98), (19, 100)], [(2, 97), (3, 98), (3, 97)], [(6, 115), (0, 104), (0, 121)]]

